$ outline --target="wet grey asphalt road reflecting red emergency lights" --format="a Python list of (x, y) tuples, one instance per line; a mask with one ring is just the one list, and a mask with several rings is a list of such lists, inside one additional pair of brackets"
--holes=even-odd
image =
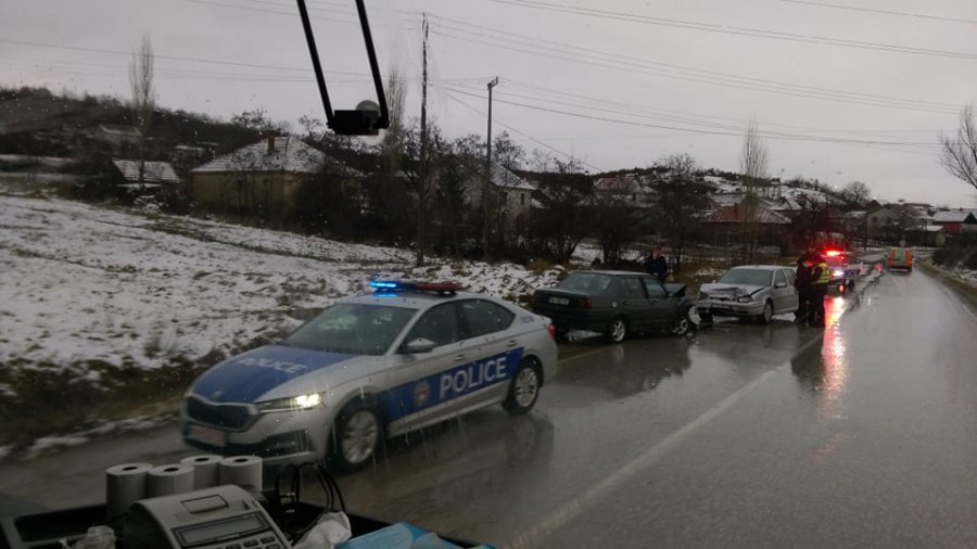
[[(446, 422), (340, 484), (508, 547), (977, 546), (977, 312), (918, 270), (828, 310), (572, 342), (530, 416)], [(4, 465), (0, 493), (98, 501), (105, 467), (188, 454), (175, 429), (99, 442)]]

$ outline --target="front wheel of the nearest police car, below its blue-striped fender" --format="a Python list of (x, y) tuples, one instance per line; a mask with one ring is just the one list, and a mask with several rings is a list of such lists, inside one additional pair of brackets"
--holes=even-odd
[(376, 457), (382, 438), (383, 425), (376, 409), (366, 403), (353, 401), (337, 419), (330, 458), (342, 471), (357, 471)]

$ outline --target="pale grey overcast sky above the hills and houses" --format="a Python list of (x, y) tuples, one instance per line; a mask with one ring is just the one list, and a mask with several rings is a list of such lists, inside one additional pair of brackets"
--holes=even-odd
[[(308, 0), (338, 106), (371, 97), (352, 0)], [(289, 0), (0, 0), (0, 82), (128, 97), (150, 34), (161, 105), (227, 118), (325, 119)], [(771, 176), (879, 197), (977, 207), (939, 166), (937, 137), (977, 103), (974, 0), (367, 0), (384, 72), (452, 137), (494, 131), (591, 171), (689, 153), (737, 170), (756, 119)], [(545, 143), (545, 145), (544, 145)], [(551, 148), (551, 149), (548, 149)]]

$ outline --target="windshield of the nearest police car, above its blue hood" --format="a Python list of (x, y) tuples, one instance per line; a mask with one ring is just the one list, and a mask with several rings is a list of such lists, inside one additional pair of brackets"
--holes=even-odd
[(281, 345), (351, 355), (382, 355), (417, 312), (407, 307), (340, 303), (323, 310)]

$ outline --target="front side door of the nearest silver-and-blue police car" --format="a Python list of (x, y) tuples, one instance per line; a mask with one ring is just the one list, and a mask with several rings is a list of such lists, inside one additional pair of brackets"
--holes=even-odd
[[(434, 348), (415, 354), (404, 349), (418, 339), (433, 342)], [(389, 387), (382, 396), (390, 421), (389, 434), (416, 429), (447, 407), (445, 403), (451, 400), (451, 395), (440, 391), (441, 374), (465, 363), (467, 356), (457, 302), (423, 311), (394, 353), (390, 367), (381, 373), (382, 382)]]

